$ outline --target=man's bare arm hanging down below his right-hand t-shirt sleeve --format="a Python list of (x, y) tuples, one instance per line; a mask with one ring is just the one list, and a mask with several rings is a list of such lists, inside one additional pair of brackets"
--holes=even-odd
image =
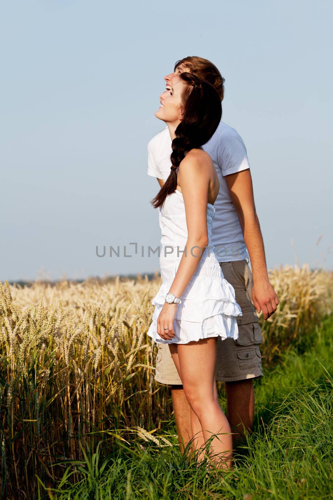
[(244, 241), (248, 249), (252, 274), (252, 300), (258, 312), (268, 319), (277, 308), (279, 299), (268, 279), (264, 241), (256, 212), (250, 169), (224, 176), (231, 200), (236, 208)]

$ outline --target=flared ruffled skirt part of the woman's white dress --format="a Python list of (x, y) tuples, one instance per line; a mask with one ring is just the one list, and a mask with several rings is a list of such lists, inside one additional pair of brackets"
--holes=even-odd
[(191, 281), (177, 305), (173, 328), (175, 336), (165, 340), (157, 333), (157, 319), (165, 303), (180, 261), (161, 267), (163, 280), (158, 293), (152, 299), (155, 305), (148, 335), (155, 342), (186, 344), (192, 340), (220, 336), (238, 338), (236, 316), (242, 316), (242, 309), (235, 299), (234, 287), (224, 278), (215, 253), (205, 256), (199, 262)]

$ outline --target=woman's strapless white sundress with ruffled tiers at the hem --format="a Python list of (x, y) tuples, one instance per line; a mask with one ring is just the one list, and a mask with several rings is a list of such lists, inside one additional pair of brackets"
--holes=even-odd
[[(234, 287), (224, 278), (215, 247), (211, 242), (214, 217), (215, 208), (208, 203), (207, 231), (210, 246), (205, 248), (194, 275), (179, 297), (181, 303), (177, 305), (173, 324), (175, 336), (172, 340), (165, 340), (157, 333), (157, 318), (176, 275), (188, 231), (184, 199), (178, 189), (168, 194), (164, 204), (158, 207), (158, 219), (162, 231), (160, 267), (163, 283), (151, 302), (155, 305), (155, 309), (147, 332), (155, 342), (185, 344), (192, 340), (218, 335), (222, 339), (238, 338), (236, 316), (242, 315), (242, 309), (236, 302)], [(187, 250), (189, 253), (190, 249)], [(198, 249), (193, 253), (197, 254)]]

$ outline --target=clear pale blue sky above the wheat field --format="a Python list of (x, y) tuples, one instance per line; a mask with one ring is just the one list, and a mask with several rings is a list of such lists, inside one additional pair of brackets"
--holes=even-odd
[(146, 148), (187, 55), (226, 78), (268, 267), (333, 267), (330, 1), (12, 1), (1, 19), (2, 282), (159, 271)]

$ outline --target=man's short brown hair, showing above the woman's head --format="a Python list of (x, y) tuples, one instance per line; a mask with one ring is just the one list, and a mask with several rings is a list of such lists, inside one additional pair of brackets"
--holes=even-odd
[(201, 80), (206, 80), (211, 83), (219, 94), (221, 101), (223, 100), (225, 78), (223, 78), (215, 64), (197, 55), (189, 55), (177, 61), (175, 64), (175, 71), (180, 64), (185, 64), (190, 68), (190, 72), (198, 76)]

